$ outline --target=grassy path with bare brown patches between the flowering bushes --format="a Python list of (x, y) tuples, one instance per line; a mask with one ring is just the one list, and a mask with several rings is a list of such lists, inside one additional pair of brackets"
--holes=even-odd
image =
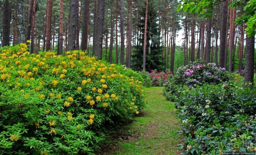
[(174, 103), (167, 101), (163, 87), (145, 88), (147, 107), (125, 126), (107, 135), (100, 155), (176, 155), (178, 144), (183, 143), (179, 119), (175, 116)]

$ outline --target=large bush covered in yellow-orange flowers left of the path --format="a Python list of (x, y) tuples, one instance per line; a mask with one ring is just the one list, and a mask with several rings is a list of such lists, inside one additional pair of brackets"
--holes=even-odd
[(144, 108), (141, 82), (81, 51), (0, 48), (0, 154), (91, 153)]

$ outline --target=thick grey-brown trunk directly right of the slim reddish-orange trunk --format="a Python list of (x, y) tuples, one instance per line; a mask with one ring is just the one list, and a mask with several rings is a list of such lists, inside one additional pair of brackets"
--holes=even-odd
[(76, 28), (77, 28), (77, 0), (70, 0), (69, 11), (69, 34), (68, 34), (68, 50), (75, 50)]

